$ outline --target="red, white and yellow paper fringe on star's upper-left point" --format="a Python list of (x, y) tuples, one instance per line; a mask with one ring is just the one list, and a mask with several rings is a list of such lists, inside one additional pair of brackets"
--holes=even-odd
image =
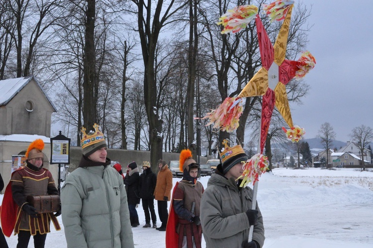
[(224, 29), (221, 31), (225, 33), (236, 33), (242, 28), (245, 28), (255, 18), (258, 13), (258, 7), (254, 5), (241, 5), (233, 9), (229, 9), (225, 14), (219, 18), (216, 24), (223, 25)]

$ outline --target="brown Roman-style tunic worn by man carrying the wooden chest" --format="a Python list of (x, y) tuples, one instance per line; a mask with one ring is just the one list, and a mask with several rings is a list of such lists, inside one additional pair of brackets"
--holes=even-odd
[[(24, 204), (26, 204), (26, 197), (28, 195), (47, 195), (48, 186), (56, 187), (52, 174), (49, 170), (41, 168), (39, 171), (34, 171), (27, 166), (23, 169), (15, 171), (10, 179), (12, 185), (23, 187)], [(56, 230), (60, 230), (57, 219), (53, 214), (38, 214), (38, 218), (30, 218), (22, 210), (22, 206), (18, 206), (17, 220), (14, 227), (14, 234), (18, 234), (20, 230), (30, 231), (31, 235), (36, 235), (36, 231), (40, 234), (50, 232), (49, 224), (52, 217), (53, 224)]]

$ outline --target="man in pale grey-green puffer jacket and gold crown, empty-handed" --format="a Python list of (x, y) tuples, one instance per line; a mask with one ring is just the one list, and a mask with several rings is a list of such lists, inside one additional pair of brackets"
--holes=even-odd
[(83, 156), (62, 187), (62, 222), (68, 248), (133, 248), (123, 178), (110, 166), (98, 129), (82, 128)]

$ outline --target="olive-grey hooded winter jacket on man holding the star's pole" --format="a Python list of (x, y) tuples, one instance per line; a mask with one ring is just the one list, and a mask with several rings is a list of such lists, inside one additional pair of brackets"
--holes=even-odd
[[(238, 189), (233, 178), (227, 179), (212, 174), (208, 180), (200, 206), (200, 221), (206, 248), (241, 248), (249, 237), (249, 220), (246, 211), (251, 209), (253, 190), (249, 187)], [(264, 244), (263, 217), (259, 211), (254, 226), (253, 240), (260, 247)]]

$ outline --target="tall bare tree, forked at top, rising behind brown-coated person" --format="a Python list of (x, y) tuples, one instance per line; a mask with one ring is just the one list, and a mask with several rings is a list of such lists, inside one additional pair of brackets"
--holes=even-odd
[(162, 158), (163, 147), (162, 120), (159, 116), (159, 97), (162, 90), (158, 88), (155, 74), (156, 47), (161, 29), (173, 22), (173, 15), (184, 8), (187, 1), (171, 0), (166, 9), (163, 8), (166, 5), (163, 0), (157, 1), (156, 6), (153, 6), (154, 2), (151, 0), (132, 2), (137, 8), (137, 27), (144, 62), (144, 100), (150, 132), (150, 160), (153, 169), (156, 169), (157, 160)]

